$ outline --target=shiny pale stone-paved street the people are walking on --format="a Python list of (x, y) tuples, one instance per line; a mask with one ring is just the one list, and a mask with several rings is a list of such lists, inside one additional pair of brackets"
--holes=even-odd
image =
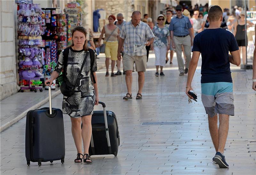
[[(201, 59), (200, 59), (201, 61)], [(124, 75), (105, 77), (98, 71), (100, 101), (116, 113), (120, 146), (117, 157), (92, 156), (93, 164), (75, 164), (75, 144), (71, 122), (64, 115), (65, 163), (60, 161), (26, 164), (26, 117), (1, 132), (1, 174), (230, 174), (253, 175), (256, 170), (256, 96), (252, 90), (252, 70), (232, 66), (235, 116), (230, 117), (225, 157), (230, 168), (212, 163), (215, 149), (208, 129), (208, 119), (201, 102), (200, 70), (195, 73), (193, 88), (198, 102), (188, 104), (185, 94), (187, 75), (179, 76), (176, 56), (164, 68), (165, 77), (155, 77), (154, 54), (150, 54), (143, 99), (136, 100), (137, 73), (133, 72), (132, 96), (126, 94)], [(199, 68), (201, 63), (199, 63)], [(115, 71), (116, 72), (116, 71)], [(52, 99), (61, 108), (62, 95)], [(42, 107), (47, 107), (48, 103)], [(95, 110), (101, 110), (96, 106)], [(176, 125), (142, 125), (144, 122), (177, 122)], [(168, 123), (165, 123), (168, 124)]]

